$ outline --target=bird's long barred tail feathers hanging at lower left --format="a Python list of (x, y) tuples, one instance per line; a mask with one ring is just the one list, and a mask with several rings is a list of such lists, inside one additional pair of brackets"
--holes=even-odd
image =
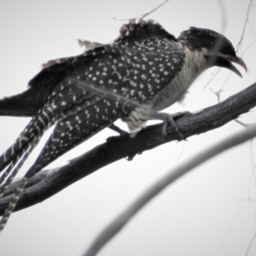
[[(3, 197), (6, 189), (8, 189), (12, 180), (15, 178), (15, 175), (19, 172), (22, 164), (24, 164), (24, 161), (26, 161), (33, 149), (36, 147), (45, 131), (47, 131), (47, 129), (54, 124), (56, 118), (58, 118), (58, 113), (60, 113), (60, 109), (56, 108), (56, 102), (58, 102), (58, 100), (58, 97), (55, 97), (53, 100), (49, 100), (49, 102), (45, 104), (44, 108), (40, 109), (40, 111), (33, 116), (13, 145), (8, 148), (2, 156), (0, 156), (0, 172), (3, 172), (0, 177), (0, 198)], [(4, 170), (4, 168), (6, 168), (6, 170)], [(12, 214), (28, 179), (28, 175), (25, 175), (20, 181), (15, 195), (0, 220), (0, 232), (5, 227), (10, 214)]]

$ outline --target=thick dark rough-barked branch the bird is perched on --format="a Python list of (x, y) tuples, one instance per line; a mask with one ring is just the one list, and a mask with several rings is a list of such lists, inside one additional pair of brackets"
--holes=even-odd
[[(181, 116), (175, 122), (179, 131), (184, 134), (185, 138), (188, 138), (225, 125), (255, 106), (256, 83), (219, 104), (197, 113)], [(22, 193), (15, 211), (38, 204), (77, 180), (119, 159), (132, 158), (145, 150), (150, 150), (173, 140), (179, 140), (179, 134), (170, 126), (167, 129), (168, 134), (162, 136), (162, 126), (163, 124), (150, 125), (139, 132), (136, 138), (130, 138), (127, 135), (108, 138), (106, 143), (102, 143), (82, 156), (72, 159), (65, 166), (38, 173), (43, 178), (38, 179), (39, 176), (36, 175), (30, 180), (30, 186), (26, 187), (24, 193)], [(41, 181), (38, 182), (38, 180)], [(9, 194), (0, 200), (0, 214), (3, 214), (12, 198), (10, 193), (13, 189), (15, 189), (15, 184), (13, 184)]]

